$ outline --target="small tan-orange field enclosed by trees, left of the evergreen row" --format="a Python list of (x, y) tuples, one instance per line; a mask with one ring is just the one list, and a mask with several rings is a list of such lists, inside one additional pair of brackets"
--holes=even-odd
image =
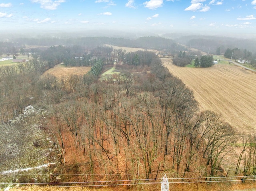
[(90, 71), (91, 67), (64, 67), (62, 64), (58, 64), (47, 70), (44, 75), (51, 74), (58, 79), (68, 79), (71, 75), (84, 75)]

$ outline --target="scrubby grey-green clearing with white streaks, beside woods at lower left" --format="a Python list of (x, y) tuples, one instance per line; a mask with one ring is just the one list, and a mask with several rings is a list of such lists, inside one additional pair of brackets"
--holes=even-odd
[(49, 181), (44, 177), (58, 161), (55, 144), (43, 130), (43, 113), (30, 105), (0, 125), (0, 182)]

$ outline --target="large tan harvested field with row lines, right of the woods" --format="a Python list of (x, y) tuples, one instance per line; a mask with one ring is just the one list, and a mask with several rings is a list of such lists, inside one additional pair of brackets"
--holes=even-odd
[(194, 91), (200, 110), (222, 114), (239, 132), (256, 132), (255, 73), (231, 65), (187, 68), (173, 65), (168, 58), (162, 62)]

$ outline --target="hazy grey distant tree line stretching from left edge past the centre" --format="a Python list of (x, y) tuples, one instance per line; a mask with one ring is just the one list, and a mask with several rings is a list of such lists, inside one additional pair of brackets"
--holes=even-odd
[[(157, 49), (165, 51), (170, 54), (175, 54), (178, 51), (185, 51), (186, 48), (179, 45), (174, 40), (166, 39), (163, 37), (139, 37), (138, 39), (125, 39), (125, 38), (110, 38), (110, 37), (76, 37), (76, 38), (57, 38), (57, 37), (44, 37), (44, 38), (30, 38), (22, 37), (14, 39), (16, 43), (0, 42), (0, 53), (12, 53), (12, 47), (17, 50), (20, 48), (26, 49), (26, 45), (34, 46), (58, 46), (73, 47), (73, 49), (94, 49), (101, 47), (104, 44), (124, 46), (124, 47), (140, 47), (146, 49)], [(27, 52), (38, 52), (44, 50), (44, 47), (26, 49)], [(72, 50), (70, 51), (72, 54)], [(76, 50), (79, 54), (79, 51)]]

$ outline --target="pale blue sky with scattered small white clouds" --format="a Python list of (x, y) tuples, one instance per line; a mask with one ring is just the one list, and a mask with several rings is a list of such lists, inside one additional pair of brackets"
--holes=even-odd
[(256, 33), (256, 0), (1, 0), (0, 30)]

